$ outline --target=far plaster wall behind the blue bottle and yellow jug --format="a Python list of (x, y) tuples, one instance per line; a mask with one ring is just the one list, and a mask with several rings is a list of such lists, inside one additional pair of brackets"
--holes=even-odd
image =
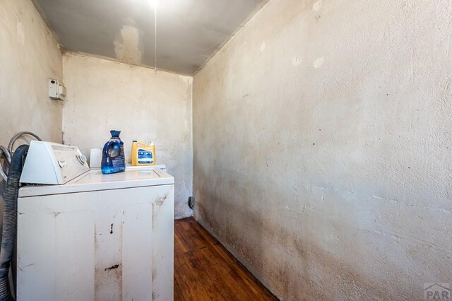
[(90, 148), (102, 148), (109, 131), (119, 129), (130, 161), (132, 140), (155, 141), (156, 163), (175, 179), (175, 216), (191, 216), (192, 78), (72, 53), (63, 64), (64, 143), (89, 157)]

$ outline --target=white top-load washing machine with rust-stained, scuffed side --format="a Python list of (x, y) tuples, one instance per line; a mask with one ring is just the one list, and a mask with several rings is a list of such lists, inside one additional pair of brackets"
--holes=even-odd
[[(85, 168), (78, 149), (61, 154), (52, 144), (54, 165)], [(27, 165), (29, 157), (24, 179)], [(162, 170), (90, 170), (65, 184), (22, 187), (18, 300), (173, 300), (173, 235), (174, 178)]]

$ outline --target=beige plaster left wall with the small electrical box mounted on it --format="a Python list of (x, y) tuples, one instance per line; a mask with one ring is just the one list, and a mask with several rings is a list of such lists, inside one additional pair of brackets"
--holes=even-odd
[(1, 1), (0, 145), (19, 131), (61, 142), (62, 103), (47, 90), (49, 78), (63, 78), (61, 57), (31, 1)]

